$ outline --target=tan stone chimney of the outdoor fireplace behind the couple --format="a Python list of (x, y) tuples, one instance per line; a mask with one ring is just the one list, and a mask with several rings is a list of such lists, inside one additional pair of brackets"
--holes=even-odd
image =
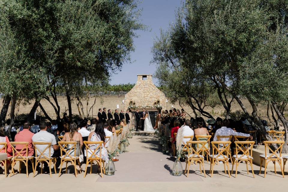
[[(143, 79), (143, 78), (147, 79)], [(137, 75), (135, 86), (125, 95), (125, 109), (129, 107), (130, 101), (136, 106), (153, 106), (159, 101), (159, 105), (166, 109), (166, 97), (152, 81), (152, 75)]]

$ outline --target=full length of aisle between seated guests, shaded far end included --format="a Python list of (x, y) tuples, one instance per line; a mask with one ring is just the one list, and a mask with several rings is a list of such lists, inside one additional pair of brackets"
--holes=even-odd
[[(133, 136), (130, 146), (120, 154), (116, 162), (116, 172), (113, 176), (98, 178), (97, 182), (191, 182), (202, 181), (196, 174), (187, 178), (170, 175), (174, 158), (164, 155), (159, 141), (154, 135)], [(118, 157), (117, 157), (118, 158)], [(185, 167), (185, 163), (182, 163)]]

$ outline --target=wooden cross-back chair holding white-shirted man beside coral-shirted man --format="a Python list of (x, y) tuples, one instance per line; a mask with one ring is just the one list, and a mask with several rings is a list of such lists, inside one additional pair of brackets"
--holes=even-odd
[[(41, 163), (41, 174), (43, 173), (43, 163), (46, 162), (49, 166), (49, 174), (50, 174), (50, 177), (52, 177), (52, 174), (51, 174), (51, 165), (52, 165), (52, 162), (54, 163), (54, 171), (56, 173), (56, 167), (55, 167), (55, 164), (56, 164), (56, 158), (55, 157), (50, 157), (50, 155), (47, 157), (46, 155), (44, 155), (44, 153), (46, 151), (49, 152), (49, 154), (51, 154), (51, 143), (48, 143), (48, 142), (32, 142), (33, 145), (34, 145), (34, 149), (35, 149), (35, 168), (34, 168), (34, 174), (33, 174), (33, 177), (35, 177), (35, 173), (36, 173), (36, 167), (37, 167), (37, 164), (38, 163)], [(44, 150), (42, 151), (41, 149), (39, 149), (39, 146), (43, 145), (45, 148)], [(39, 153), (39, 155), (38, 155)]]

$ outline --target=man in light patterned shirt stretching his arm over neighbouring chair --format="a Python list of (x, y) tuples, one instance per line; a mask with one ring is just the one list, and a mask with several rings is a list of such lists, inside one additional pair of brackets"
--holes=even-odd
[[(237, 136), (244, 136), (244, 137), (249, 137), (250, 140), (253, 139), (252, 136), (249, 134), (244, 134), (240, 132), (236, 132), (231, 128), (227, 128), (229, 126), (229, 121), (227, 119), (223, 120), (223, 127), (220, 129), (217, 129), (213, 141), (217, 141), (217, 135), (223, 135), (223, 136), (229, 136), (229, 135), (237, 135)], [(229, 138), (220, 138), (221, 141), (228, 141)]]

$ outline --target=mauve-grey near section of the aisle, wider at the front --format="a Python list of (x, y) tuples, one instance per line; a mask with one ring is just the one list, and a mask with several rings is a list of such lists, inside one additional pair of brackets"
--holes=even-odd
[[(190, 171), (189, 177), (172, 176), (173, 161), (169, 156), (160, 152), (134, 153), (126, 152), (119, 156), (120, 161), (115, 162), (116, 173), (113, 176), (104, 175), (96, 182), (193, 182), (202, 181), (194, 171)], [(182, 163), (185, 169), (185, 163)], [(199, 171), (198, 171), (199, 172)]]

